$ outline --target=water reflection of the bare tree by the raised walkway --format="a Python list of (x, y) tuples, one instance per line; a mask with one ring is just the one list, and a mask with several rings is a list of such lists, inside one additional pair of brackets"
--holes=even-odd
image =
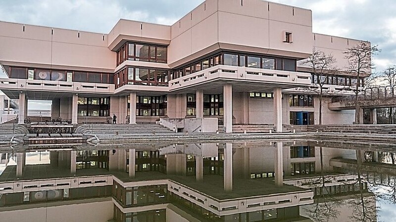
[(377, 222), (378, 208), (376, 206), (376, 198), (370, 198), (367, 191), (363, 188), (364, 181), (362, 180), (362, 160), (364, 153), (361, 150), (356, 150), (356, 173), (359, 184), (358, 193), (355, 198), (350, 199), (349, 203), (352, 208), (352, 215), (349, 217), (353, 222)]

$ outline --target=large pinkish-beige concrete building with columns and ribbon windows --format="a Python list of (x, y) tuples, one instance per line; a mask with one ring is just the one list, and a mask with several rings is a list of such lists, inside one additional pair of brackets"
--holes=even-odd
[[(300, 61), (312, 49), (343, 52), (359, 41), (312, 33), (308, 9), (263, 0), (206, 0), (171, 26), (120, 19), (108, 34), (0, 22), (0, 89), (20, 100), (52, 101), (51, 118), (73, 124), (216, 117), (233, 124), (319, 123), (315, 82)], [(40, 56), (38, 56), (40, 55)], [(351, 124), (353, 110), (330, 110), (356, 79), (326, 85), (323, 124)], [(131, 118), (129, 118), (131, 117)]]

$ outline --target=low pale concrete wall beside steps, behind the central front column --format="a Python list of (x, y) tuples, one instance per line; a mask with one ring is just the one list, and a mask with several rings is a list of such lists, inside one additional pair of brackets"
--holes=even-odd
[(159, 124), (173, 132), (183, 129), (183, 133), (216, 133), (218, 130), (217, 118), (161, 118)]

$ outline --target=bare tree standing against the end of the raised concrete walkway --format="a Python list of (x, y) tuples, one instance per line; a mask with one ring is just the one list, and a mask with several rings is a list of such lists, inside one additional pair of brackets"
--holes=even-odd
[(360, 41), (359, 44), (347, 48), (344, 52), (345, 58), (348, 60), (348, 71), (356, 76), (357, 84), (356, 88), (353, 89), (355, 93), (355, 124), (360, 124), (360, 107), (358, 104), (358, 95), (361, 91), (360, 79), (365, 74), (370, 74), (373, 65), (371, 63), (371, 57), (380, 52), (378, 45), (371, 45), (369, 42)]

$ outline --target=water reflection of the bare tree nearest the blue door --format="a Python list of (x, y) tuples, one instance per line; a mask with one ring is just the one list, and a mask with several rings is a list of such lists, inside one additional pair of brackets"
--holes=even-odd
[[(305, 208), (309, 218), (314, 222), (327, 222), (330, 219), (336, 220), (340, 214), (341, 201), (331, 196), (329, 187), (325, 186), (327, 181), (333, 178), (326, 177), (323, 169), (323, 148), (320, 147), (320, 172), (319, 178), (313, 178), (309, 181), (311, 188), (317, 187), (318, 192), (314, 194), (314, 208)], [(317, 184), (321, 184), (319, 187)]]

